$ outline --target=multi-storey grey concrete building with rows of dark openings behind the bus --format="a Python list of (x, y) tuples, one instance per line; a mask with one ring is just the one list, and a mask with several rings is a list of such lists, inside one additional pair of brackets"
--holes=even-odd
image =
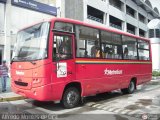
[(149, 0), (61, 0), (61, 16), (148, 37), (147, 24), (159, 17)]

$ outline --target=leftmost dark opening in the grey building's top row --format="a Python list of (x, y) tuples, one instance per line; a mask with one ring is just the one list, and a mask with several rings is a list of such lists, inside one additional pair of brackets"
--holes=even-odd
[(124, 11), (124, 3), (121, 2), (120, 0), (109, 0), (109, 4), (121, 11)]

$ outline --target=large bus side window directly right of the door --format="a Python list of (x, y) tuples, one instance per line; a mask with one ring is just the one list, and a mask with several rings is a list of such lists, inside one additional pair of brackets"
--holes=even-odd
[(76, 26), (77, 57), (100, 57), (99, 31)]

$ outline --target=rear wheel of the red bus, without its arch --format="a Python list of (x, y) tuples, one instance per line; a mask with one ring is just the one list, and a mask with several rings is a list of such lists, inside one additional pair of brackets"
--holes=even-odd
[(132, 94), (135, 91), (135, 82), (133, 80), (130, 81), (128, 88), (121, 89), (123, 94)]

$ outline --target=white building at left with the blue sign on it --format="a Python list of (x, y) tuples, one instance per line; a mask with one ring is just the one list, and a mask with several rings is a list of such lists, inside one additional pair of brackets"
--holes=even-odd
[(0, 64), (10, 61), (17, 31), (57, 16), (55, 6), (55, 0), (0, 0)]

